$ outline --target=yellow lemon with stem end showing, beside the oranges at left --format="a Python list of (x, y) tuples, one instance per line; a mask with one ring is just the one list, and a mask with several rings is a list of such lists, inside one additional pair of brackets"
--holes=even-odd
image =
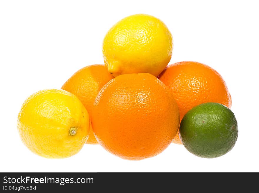
[(27, 98), (18, 115), (22, 142), (47, 158), (64, 158), (81, 150), (88, 138), (89, 115), (65, 90), (41, 90)]

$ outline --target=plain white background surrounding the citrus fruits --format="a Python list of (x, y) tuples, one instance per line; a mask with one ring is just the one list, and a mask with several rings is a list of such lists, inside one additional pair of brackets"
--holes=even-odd
[[(1, 172), (259, 172), (257, 1), (0, 1)], [(24, 100), (60, 88), (80, 68), (103, 64), (102, 40), (120, 19), (160, 18), (174, 38), (170, 63), (198, 61), (217, 70), (232, 96), (239, 136), (233, 150), (203, 159), (182, 145), (128, 161), (100, 145), (67, 159), (46, 159), (21, 142), (16, 119)]]

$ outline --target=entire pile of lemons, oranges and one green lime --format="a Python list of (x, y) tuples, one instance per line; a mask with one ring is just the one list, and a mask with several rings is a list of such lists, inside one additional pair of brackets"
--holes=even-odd
[(206, 158), (234, 147), (238, 125), (223, 78), (198, 62), (168, 65), (173, 38), (161, 20), (122, 19), (107, 32), (102, 51), (104, 65), (86, 66), (61, 89), (26, 99), (17, 127), (32, 152), (64, 158), (100, 144), (123, 159), (142, 160), (171, 142)]

